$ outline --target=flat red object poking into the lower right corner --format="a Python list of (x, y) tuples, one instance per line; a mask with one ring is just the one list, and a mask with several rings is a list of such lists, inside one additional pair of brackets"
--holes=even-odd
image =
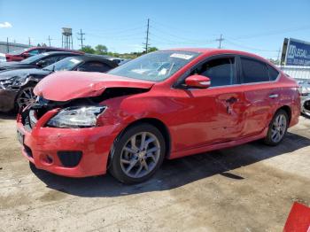
[(295, 202), (283, 232), (310, 232), (310, 208)]

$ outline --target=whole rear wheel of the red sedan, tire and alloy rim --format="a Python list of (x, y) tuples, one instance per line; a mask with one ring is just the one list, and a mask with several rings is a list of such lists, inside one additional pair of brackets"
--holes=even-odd
[(289, 116), (287, 112), (278, 110), (271, 120), (264, 142), (270, 146), (281, 143), (289, 127)]

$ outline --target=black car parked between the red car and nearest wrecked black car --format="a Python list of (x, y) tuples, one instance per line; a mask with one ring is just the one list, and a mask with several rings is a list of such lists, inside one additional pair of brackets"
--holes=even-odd
[(81, 53), (71, 51), (50, 51), (35, 55), (21, 61), (0, 63), (0, 72), (21, 68), (43, 68), (67, 57), (81, 56)]

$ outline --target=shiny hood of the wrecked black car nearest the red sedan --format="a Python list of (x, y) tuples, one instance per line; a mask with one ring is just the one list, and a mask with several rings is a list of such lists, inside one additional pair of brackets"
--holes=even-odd
[(48, 75), (50, 72), (45, 71), (42, 69), (37, 68), (26, 68), (26, 69), (13, 69), (13, 70), (5, 70), (3, 72), (0, 72), (0, 81), (1, 80), (7, 80), (14, 76), (24, 77), (24, 76), (45, 76)]

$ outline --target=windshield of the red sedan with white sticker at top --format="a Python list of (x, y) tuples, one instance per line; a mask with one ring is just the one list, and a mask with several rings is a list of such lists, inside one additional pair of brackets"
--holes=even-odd
[(198, 52), (190, 51), (155, 51), (135, 58), (108, 73), (146, 81), (164, 81), (198, 55)]

